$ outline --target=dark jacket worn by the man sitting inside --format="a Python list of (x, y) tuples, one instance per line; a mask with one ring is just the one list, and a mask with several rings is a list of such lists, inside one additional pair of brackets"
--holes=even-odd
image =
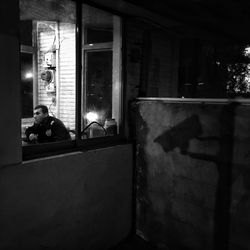
[[(51, 136), (46, 135), (46, 131), (51, 130)], [(27, 136), (27, 141), (29, 140), (30, 134), (37, 134), (37, 142), (43, 143), (43, 142), (55, 142), (55, 141), (62, 141), (62, 140), (70, 140), (70, 135), (67, 130), (67, 128), (64, 126), (62, 121), (59, 119), (48, 116), (44, 118), (44, 120), (36, 124), (34, 123), (33, 126), (28, 127), (25, 131), (25, 134)]]

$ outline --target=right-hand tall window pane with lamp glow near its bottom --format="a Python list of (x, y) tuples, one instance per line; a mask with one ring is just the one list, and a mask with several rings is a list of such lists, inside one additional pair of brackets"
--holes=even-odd
[(82, 135), (116, 135), (121, 123), (120, 18), (85, 4), (82, 11)]

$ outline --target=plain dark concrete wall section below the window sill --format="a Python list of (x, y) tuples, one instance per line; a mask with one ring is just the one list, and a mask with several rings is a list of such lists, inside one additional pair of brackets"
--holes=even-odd
[(0, 249), (107, 249), (131, 230), (132, 147), (0, 169)]

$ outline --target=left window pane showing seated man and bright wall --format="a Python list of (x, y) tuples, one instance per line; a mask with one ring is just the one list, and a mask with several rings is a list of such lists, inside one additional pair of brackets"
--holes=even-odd
[[(29, 92), (22, 87), (23, 144), (74, 139), (75, 3), (69, 0), (19, 3), (21, 47), (30, 53), (33, 78), (29, 81), (34, 86)], [(21, 54), (22, 74), (27, 70), (26, 57)], [(22, 75), (22, 86), (23, 82)], [(37, 105), (46, 108), (36, 108)], [(41, 119), (37, 118), (40, 111)], [(35, 134), (35, 139), (30, 134)]]

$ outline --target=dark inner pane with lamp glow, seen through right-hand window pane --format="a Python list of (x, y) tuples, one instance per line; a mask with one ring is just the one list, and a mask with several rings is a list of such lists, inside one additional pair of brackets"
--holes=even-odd
[[(105, 136), (112, 119), (112, 51), (88, 51), (86, 62), (86, 116), (84, 138)], [(94, 122), (90, 127), (88, 124)], [(106, 123), (105, 123), (106, 122)], [(113, 132), (116, 134), (116, 131)]]

